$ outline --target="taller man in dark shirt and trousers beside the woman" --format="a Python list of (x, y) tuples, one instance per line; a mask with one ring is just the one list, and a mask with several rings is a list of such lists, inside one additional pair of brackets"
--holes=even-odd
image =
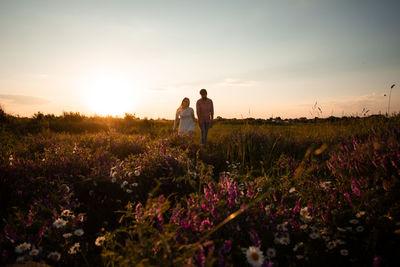
[(201, 130), (201, 143), (206, 144), (208, 129), (214, 119), (214, 105), (211, 99), (207, 98), (207, 90), (200, 90), (201, 98), (196, 103), (196, 113)]

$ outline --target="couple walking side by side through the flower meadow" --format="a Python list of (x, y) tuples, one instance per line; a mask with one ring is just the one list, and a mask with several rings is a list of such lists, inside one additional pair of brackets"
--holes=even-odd
[[(200, 90), (201, 98), (196, 103), (196, 113), (198, 118), (199, 127), (201, 130), (201, 143), (206, 144), (208, 129), (211, 127), (214, 118), (214, 105), (211, 99), (207, 98), (207, 90)], [(192, 135), (194, 132), (194, 111), (190, 105), (189, 98), (185, 97), (182, 100), (181, 106), (176, 111), (174, 130), (179, 122), (179, 135)]]

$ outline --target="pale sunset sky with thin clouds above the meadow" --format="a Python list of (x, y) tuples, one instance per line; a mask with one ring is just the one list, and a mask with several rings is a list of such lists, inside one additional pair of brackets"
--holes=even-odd
[(385, 114), (389, 95), (399, 112), (399, 14), (398, 0), (0, 0), (0, 105), (173, 119), (205, 88), (223, 118)]

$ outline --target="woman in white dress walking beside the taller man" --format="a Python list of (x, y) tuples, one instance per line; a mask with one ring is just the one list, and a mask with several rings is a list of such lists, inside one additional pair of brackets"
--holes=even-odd
[(174, 131), (179, 121), (179, 135), (192, 135), (194, 132), (194, 124), (196, 122), (196, 119), (194, 118), (194, 111), (191, 107), (189, 107), (189, 105), (190, 100), (189, 98), (185, 97), (182, 100), (182, 104), (180, 105), (180, 107), (176, 110)]

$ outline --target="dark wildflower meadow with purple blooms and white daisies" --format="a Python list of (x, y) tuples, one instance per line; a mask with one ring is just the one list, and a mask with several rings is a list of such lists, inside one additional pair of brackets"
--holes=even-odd
[(396, 266), (400, 116), (0, 113), (1, 265)]

